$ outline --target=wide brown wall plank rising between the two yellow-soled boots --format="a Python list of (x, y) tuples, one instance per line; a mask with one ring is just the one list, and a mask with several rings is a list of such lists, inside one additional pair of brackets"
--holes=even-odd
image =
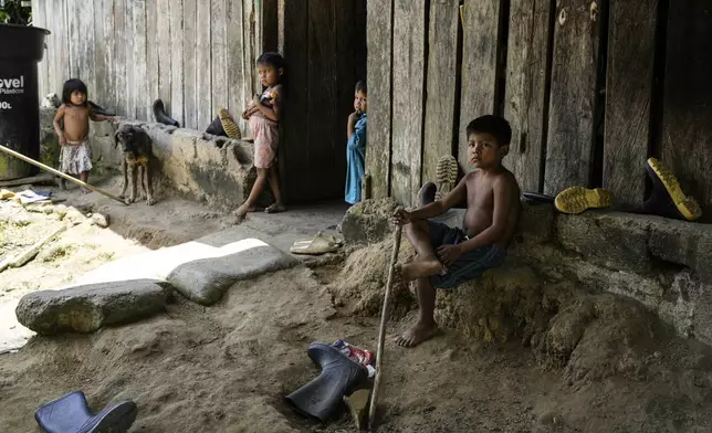
[(610, 3), (604, 187), (618, 203), (646, 192), (657, 14), (658, 0)]

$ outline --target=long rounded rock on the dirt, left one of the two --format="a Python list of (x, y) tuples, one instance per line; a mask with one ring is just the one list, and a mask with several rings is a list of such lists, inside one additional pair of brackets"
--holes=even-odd
[(18, 320), (42, 335), (93, 332), (102, 327), (136, 321), (166, 307), (166, 293), (148, 279), (101, 283), (41, 291), (20, 299)]

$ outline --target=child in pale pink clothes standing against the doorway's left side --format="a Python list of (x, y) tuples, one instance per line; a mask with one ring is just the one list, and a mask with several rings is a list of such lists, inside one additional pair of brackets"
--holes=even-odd
[(242, 118), (250, 122), (250, 130), (254, 138), (254, 167), (258, 169), (258, 179), (248, 200), (235, 211), (239, 219), (244, 218), (248, 212), (254, 212), (254, 202), (268, 181), (275, 202), (264, 211), (275, 213), (286, 210), (282, 203), (276, 165), (279, 125), (283, 107), (283, 88), (280, 82), (284, 75), (284, 59), (278, 53), (264, 53), (258, 59), (258, 72), (264, 92), (256, 95), (242, 113)]

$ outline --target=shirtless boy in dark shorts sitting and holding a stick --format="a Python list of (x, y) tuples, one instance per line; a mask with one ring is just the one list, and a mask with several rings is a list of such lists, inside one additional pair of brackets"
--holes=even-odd
[[(516, 230), (520, 187), (502, 166), (512, 139), (510, 124), (499, 116), (482, 116), (468, 125), (467, 134), (468, 161), (479, 170), (467, 175), (442, 200), (394, 214), (418, 253), (416, 261), (398, 266), (404, 279), (416, 281), (420, 306), (418, 321), (396, 338), (399, 346), (413, 347), (430, 338), (437, 329), (434, 289), (457, 287), (500, 265)], [(428, 221), (465, 199), (464, 231)]]

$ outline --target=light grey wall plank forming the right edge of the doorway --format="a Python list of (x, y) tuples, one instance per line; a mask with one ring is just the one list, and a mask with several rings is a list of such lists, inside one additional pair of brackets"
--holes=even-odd
[(392, 0), (368, 0), (368, 129), (366, 172), (370, 173), (370, 197), (390, 193), (390, 67)]

